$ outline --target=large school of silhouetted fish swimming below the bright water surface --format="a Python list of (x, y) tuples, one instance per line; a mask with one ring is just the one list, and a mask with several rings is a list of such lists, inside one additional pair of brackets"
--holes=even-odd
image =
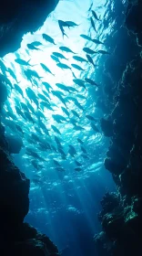
[[(96, 23), (101, 22), (101, 20), (96, 15), (96, 12), (91, 10), (91, 8), (89, 9), (89, 13), (90, 27), (97, 33)], [(68, 37), (66, 29), (79, 26), (79, 24), (76, 24), (73, 21), (58, 20), (57, 22), (63, 38)], [(46, 34), (42, 34), (41, 37), (46, 44), (56, 45), (56, 41), (53, 37)], [(81, 34), (80, 37), (84, 38), (85, 42), (90, 41), (93, 42), (95, 46), (99, 47), (99, 45), (103, 45), (105, 48), (104, 42), (101, 42), (97, 38), (91, 38), (84, 34)], [(43, 51), (42, 46), (43, 43), (40, 41), (33, 41), (26, 45), (26, 52)], [(62, 160), (66, 160), (67, 155), (73, 157), (75, 171), (82, 171), (82, 163), (81, 160), (79, 161), (77, 158), (78, 152), (76, 151), (76, 147), (73, 144), (68, 144), (68, 151), (65, 152), (62, 132), (58, 128), (60, 127), (58, 126), (58, 123), (63, 126), (65, 123), (69, 123), (72, 125), (72, 129), (75, 132), (79, 132), (77, 144), (80, 146), (80, 156), (86, 160), (89, 159), (84, 141), (80, 138), (80, 133), (82, 133), (82, 131), (86, 131), (86, 127), (80, 125), (80, 112), (85, 112), (85, 109), (84, 105), (79, 100), (86, 101), (86, 96), (79, 92), (79, 89), (81, 88), (83, 91), (87, 91), (88, 87), (96, 87), (99, 90), (99, 84), (88, 77), (85, 77), (84, 80), (77, 78), (75, 72), (76, 69), (80, 72), (84, 72), (85, 69), (81, 67), (82, 63), (92, 65), (96, 68), (97, 65), (94, 62), (94, 55), (109, 55), (110, 53), (107, 52), (106, 49), (94, 50), (93, 48), (87, 48), (86, 45), (82, 50), (86, 54), (86, 59), (78, 56), (74, 50), (67, 48), (66, 46), (61, 46), (57, 51), (52, 52), (52, 55), (49, 58), (56, 62), (56, 67), (58, 67), (58, 69), (70, 70), (73, 81), (73, 86), (56, 82), (56, 90), (53, 89), (52, 84), (50, 84), (50, 79), (45, 80), (44, 77), (41, 77), (40, 74), (35, 71), (35, 65), (30, 64), (31, 59), (21, 59), (17, 54), (15, 63), (21, 67), (25, 79), (31, 83), (31, 86), (27, 86), (25, 89), (26, 96), (20, 86), (21, 81), (17, 80), (15, 76), (15, 70), (6, 67), (5, 62), (0, 59), (0, 80), (6, 85), (9, 99), (12, 91), (15, 91), (16, 95), (14, 99), (15, 110), (11, 108), (9, 101), (5, 101), (3, 112), (5, 118), (2, 118), (2, 122), (12, 133), (18, 134), (18, 136), (22, 138), (25, 147), (25, 155), (30, 158), (30, 162), (36, 170), (42, 169), (43, 163), (46, 162), (46, 159), (42, 156), (41, 152), (54, 152), (56, 157), (53, 157), (53, 165), (55, 166), (56, 171), (65, 171), (65, 168), (58, 159), (61, 158)], [(63, 62), (63, 60), (68, 60), (66, 55), (64, 55), (65, 53), (69, 57), (71, 56), (73, 60), (71, 65), (67, 65)], [(54, 71), (51, 70), (50, 67), (47, 67), (45, 63), (38, 63), (36, 65), (40, 65), (40, 67), (49, 75), (56, 76)], [(15, 82), (11, 82), (9, 77)], [(39, 91), (39, 88), (42, 88), (42, 91)], [(56, 99), (60, 101), (62, 114), (55, 113), (58, 106), (51, 100), (52, 96), (56, 97)], [(73, 109), (70, 109), (69, 107), (70, 102), (72, 102), (74, 106)], [(46, 125), (47, 117), (45, 112), (52, 112), (52, 118), (56, 123), (55, 125), (51, 124), (50, 127)], [(95, 116), (93, 114), (87, 114), (86, 112), (85, 117), (88, 123), (90, 123), (92, 131), (100, 133), (98, 120)], [(27, 123), (32, 126), (32, 131), (30, 132), (26, 125)], [(38, 179), (35, 178), (33, 180), (35, 183), (38, 183), (40, 178), (38, 177)]]

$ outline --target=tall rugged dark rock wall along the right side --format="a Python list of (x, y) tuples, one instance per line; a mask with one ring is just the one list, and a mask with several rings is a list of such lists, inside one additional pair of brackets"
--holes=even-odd
[(142, 255), (141, 14), (142, 2), (129, 0), (123, 29), (127, 48), (131, 48), (117, 80), (115, 108), (101, 122), (105, 135), (111, 137), (105, 166), (114, 178), (117, 193), (107, 192), (101, 201), (99, 220), (103, 231), (95, 236), (100, 256)]

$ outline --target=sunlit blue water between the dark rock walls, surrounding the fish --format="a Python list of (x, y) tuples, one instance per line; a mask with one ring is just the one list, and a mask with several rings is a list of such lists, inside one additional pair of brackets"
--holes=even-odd
[[(66, 46), (71, 48), (77, 53), (77, 56), (86, 59), (86, 53), (83, 48), (92, 48), (93, 50), (106, 50), (113, 55), (115, 45), (113, 45), (113, 37), (116, 32), (116, 23), (122, 25), (121, 16), (122, 3), (118, 1), (118, 4), (107, 3), (107, 1), (94, 1), (92, 9), (96, 11), (100, 21), (96, 21), (96, 31), (91, 27), (90, 16), (91, 12), (88, 11), (92, 1), (86, 0), (82, 5), (81, 0), (76, 1), (60, 1), (56, 6), (56, 10), (51, 13), (43, 27), (40, 27), (35, 34), (28, 33), (23, 37), (21, 48), (17, 52), (11, 53), (5, 56), (3, 59), (5, 66), (14, 70), (17, 81), (20, 81), (19, 86), (24, 93), (23, 98), (17, 91), (9, 91), (10, 97), (5, 102), (5, 110), (12, 110), (16, 121), (23, 131), (21, 133), (15, 133), (14, 129), (5, 127), (5, 134), (14, 134), (17, 138), (20, 136), (23, 140), (23, 148), (20, 154), (13, 155), (15, 165), (17, 165), (21, 171), (31, 180), (30, 187), (30, 209), (29, 213), (25, 218), (25, 221), (34, 225), (35, 228), (46, 233), (47, 236), (53, 240), (58, 246), (59, 250), (63, 252), (63, 255), (97, 255), (96, 247), (93, 241), (93, 237), (96, 232), (101, 230), (100, 224), (97, 220), (97, 213), (101, 210), (100, 200), (106, 192), (115, 190), (115, 185), (110, 174), (104, 167), (104, 159), (106, 157), (106, 150), (109, 145), (109, 139), (106, 138), (101, 132), (100, 119), (106, 117), (106, 94), (103, 87), (102, 72), (105, 70), (106, 61), (110, 58), (109, 55), (96, 54), (93, 56), (93, 60), (97, 65), (96, 68), (91, 64), (84, 64), (76, 62), (73, 59), (71, 53), (61, 52), (66, 56), (68, 60), (61, 60), (63, 63), (71, 67), (72, 63), (76, 63), (81, 66), (84, 71), (73, 69), (77, 79), (84, 80), (86, 77), (95, 80), (98, 87), (86, 84), (86, 90), (75, 85), (73, 83), (73, 74), (71, 70), (59, 69), (56, 66), (56, 62), (51, 59), (50, 55), (54, 51), (59, 51), (59, 47)], [(117, 13), (116, 13), (117, 12)], [(71, 27), (70, 29), (65, 28), (67, 37), (62, 37), (61, 31), (58, 27), (57, 20), (62, 19), (64, 21), (71, 20), (76, 22), (77, 27)], [(119, 28), (119, 27), (118, 27)], [(55, 39), (56, 45), (47, 43), (43, 38), (42, 34), (46, 33)], [(86, 34), (89, 37), (99, 39), (102, 42), (106, 42), (104, 45), (96, 45), (79, 35)], [(43, 45), (39, 48), (41, 50), (29, 50), (26, 45), (33, 42), (40, 41)], [(111, 43), (112, 41), (112, 43)], [(49, 134), (44, 133), (42, 138), (53, 144), (56, 147), (55, 135), (61, 139), (66, 159), (63, 159), (59, 152), (53, 150), (43, 150), (38, 146), (37, 142), (33, 144), (29, 143), (31, 134), (35, 133), (39, 137), (35, 130), (35, 126), (39, 127), (36, 115), (32, 115), (35, 123), (25, 121), (20, 115), (15, 112), (15, 106), (18, 102), (25, 102), (27, 95), (25, 93), (26, 88), (31, 88), (35, 94), (42, 93), (45, 90), (40, 80), (37, 86), (33, 86), (28, 81), (24, 74), (24, 68), (15, 63), (16, 58), (25, 60), (30, 59), (30, 64), (35, 67), (28, 69), (34, 69), (40, 77), (43, 77), (41, 81), (47, 81), (52, 86), (53, 90), (56, 88), (56, 83), (64, 83), (66, 86), (72, 86), (78, 91), (75, 94), (65, 93), (67, 96), (72, 96), (79, 101), (84, 110), (76, 107), (73, 101), (67, 102), (68, 112), (70, 117), (77, 120), (71, 110), (75, 110), (79, 116), (78, 125), (84, 128), (82, 131), (76, 131), (74, 125), (69, 123), (66, 114), (62, 111), (61, 107), (65, 105), (59, 101), (53, 94), (50, 93), (51, 106), (54, 108), (53, 111), (42, 110), (46, 117), (45, 123), (46, 128), (49, 130)], [(55, 74), (46, 73), (39, 63), (44, 63), (46, 66)], [(15, 80), (8, 76), (8, 79), (14, 84)], [(77, 98), (77, 94), (83, 95), (85, 99)], [(101, 99), (101, 101), (100, 101)], [(29, 99), (28, 99), (29, 100)], [(38, 101), (40, 101), (38, 99)], [(35, 103), (32, 103), (36, 111)], [(109, 109), (109, 108), (108, 108)], [(52, 114), (63, 115), (67, 122), (56, 123)], [(86, 114), (92, 115), (96, 119), (96, 127), (98, 133), (95, 132), (90, 121), (86, 118)], [(11, 121), (12, 118), (6, 117)], [(15, 121), (14, 121), (15, 122)], [(3, 118), (5, 125), (5, 118)], [(61, 135), (56, 134), (51, 125), (54, 124), (60, 131)], [(82, 156), (80, 144), (77, 142), (77, 138), (80, 138), (86, 149), (86, 156)], [(76, 149), (75, 157), (68, 154), (68, 144), (71, 144)], [(36, 170), (32, 165), (33, 156), (29, 155), (25, 147), (31, 147), (38, 155), (42, 156), (44, 160), (37, 160), (38, 164), (42, 165), (42, 168)], [(53, 162), (56, 159), (58, 163), (64, 168), (65, 172), (59, 172), (56, 170), (56, 165)], [(76, 172), (75, 170), (75, 159), (82, 164), (82, 170)], [(35, 182), (37, 179), (39, 182)], [(89, 251), (89, 252), (88, 252)], [(65, 253), (65, 254), (64, 254)]]

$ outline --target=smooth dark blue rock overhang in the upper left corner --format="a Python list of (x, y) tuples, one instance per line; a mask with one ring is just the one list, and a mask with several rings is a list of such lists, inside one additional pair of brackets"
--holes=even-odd
[(20, 48), (22, 37), (41, 27), (58, 0), (2, 0), (0, 8), (0, 57)]

